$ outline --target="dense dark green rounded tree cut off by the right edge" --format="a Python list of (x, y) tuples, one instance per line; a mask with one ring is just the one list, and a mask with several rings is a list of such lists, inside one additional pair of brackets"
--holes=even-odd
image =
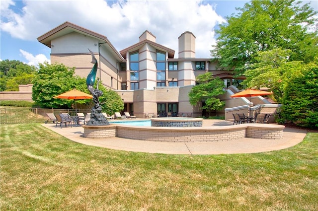
[(284, 93), (282, 118), (318, 129), (318, 58), (291, 75)]

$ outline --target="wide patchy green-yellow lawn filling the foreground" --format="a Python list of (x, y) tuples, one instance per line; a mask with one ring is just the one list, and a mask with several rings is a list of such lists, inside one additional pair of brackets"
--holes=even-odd
[(279, 151), (126, 152), (1, 125), (1, 211), (316, 211), (318, 133)]

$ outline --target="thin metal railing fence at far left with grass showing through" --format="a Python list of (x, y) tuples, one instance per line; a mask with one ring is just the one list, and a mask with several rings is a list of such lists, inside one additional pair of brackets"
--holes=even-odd
[(44, 123), (49, 117), (47, 113), (58, 115), (68, 113), (76, 116), (76, 113), (90, 112), (90, 109), (44, 109), (44, 108), (21, 108), (0, 106), (0, 124), (25, 124), (25, 123)]

